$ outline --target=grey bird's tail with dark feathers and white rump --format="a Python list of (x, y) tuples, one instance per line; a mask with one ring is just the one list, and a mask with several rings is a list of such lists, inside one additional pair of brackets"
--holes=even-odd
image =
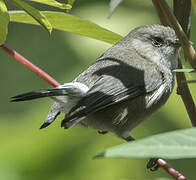
[[(59, 104), (59, 102), (65, 104), (68, 103), (69, 106), (67, 106), (66, 108), (69, 111), (74, 106), (74, 103), (76, 103), (80, 98), (86, 95), (88, 90), (89, 88), (86, 85), (79, 82), (66, 83), (57, 88), (41, 90), (41, 91), (31, 91), (31, 92), (14, 96), (11, 98), (11, 102), (28, 101), (28, 100), (38, 99), (43, 97), (53, 98), (56, 102), (53, 104), (50, 113), (48, 114), (46, 120), (40, 127), (40, 129), (42, 129), (50, 125), (60, 114), (61, 103)], [(64, 99), (61, 100), (61, 97), (57, 97), (57, 96), (70, 96), (72, 98), (70, 98), (69, 101), (64, 102)], [(65, 122), (63, 126), (65, 128), (70, 128), (75, 124), (77, 124), (78, 122), (79, 121)]]

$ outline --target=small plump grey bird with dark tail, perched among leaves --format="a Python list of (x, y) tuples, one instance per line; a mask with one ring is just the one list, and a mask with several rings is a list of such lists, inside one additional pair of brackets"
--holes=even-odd
[(65, 129), (80, 124), (130, 141), (130, 130), (164, 105), (172, 93), (179, 49), (172, 28), (141, 26), (71, 83), (14, 96), (11, 101), (52, 98), (55, 103), (41, 129), (64, 113), (61, 126)]

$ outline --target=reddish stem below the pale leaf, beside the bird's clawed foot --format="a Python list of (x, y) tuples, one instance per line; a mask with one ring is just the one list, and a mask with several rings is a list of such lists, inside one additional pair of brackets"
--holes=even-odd
[(157, 164), (162, 167), (168, 174), (170, 174), (176, 180), (188, 180), (185, 176), (181, 173), (176, 171), (173, 167), (171, 167), (166, 161), (163, 159), (158, 159)]

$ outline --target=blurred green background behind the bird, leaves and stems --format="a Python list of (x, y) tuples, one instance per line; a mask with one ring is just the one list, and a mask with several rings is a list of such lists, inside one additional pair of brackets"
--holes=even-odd
[[(109, 1), (76, 0), (72, 14), (91, 20), (121, 35), (133, 28), (159, 23), (151, 1), (124, 1), (110, 19)], [(11, 7), (11, 6), (10, 6)], [(39, 9), (49, 9), (37, 5)], [(12, 8), (12, 7), (11, 7)], [(51, 9), (51, 8), (50, 8)], [(52, 9), (54, 10), (54, 9)], [(66, 22), (65, 22), (66, 23)], [(196, 17), (193, 15), (191, 40), (196, 42)], [(7, 42), (60, 83), (72, 81), (111, 45), (79, 35), (38, 26), (10, 23)], [(51, 104), (50, 99), (10, 103), (11, 96), (50, 86), (0, 51), (0, 179), (2, 180), (164, 180), (160, 169), (146, 170), (147, 159), (101, 159), (92, 157), (108, 147), (124, 143), (113, 134), (99, 135), (92, 129), (60, 128), (61, 117), (39, 130)], [(188, 79), (196, 78), (193, 74)], [(191, 84), (196, 95), (196, 84)], [(174, 90), (167, 104), (131, 134), (136, 139), (190, 127), (182, 100)], [(190, 179), (196, 179), (195, 159), (169, 163)]]

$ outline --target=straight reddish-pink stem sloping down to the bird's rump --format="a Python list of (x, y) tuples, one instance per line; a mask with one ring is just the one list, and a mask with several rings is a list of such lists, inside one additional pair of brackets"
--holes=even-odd
[(53, 79), (50, 75), (48, 75), (46, 72), (41, 70), (39, 67), (36, 65), (32, 64), (30, 61), (28, 61), (26, 58), (24, 58), (22, 55), (20, 55), (18, 52), (15, 50), (9, 48), (6, 44), (2, 44), (0, 46), (6, 53), (11, 55), (15, 60), (20, 62), (22, 65), (26, 66), (29, 70), (37, 74), (39, 77), (47, 81), (49, 84), (51, 84), (54, 87), (59, 86), (60, 84)]

